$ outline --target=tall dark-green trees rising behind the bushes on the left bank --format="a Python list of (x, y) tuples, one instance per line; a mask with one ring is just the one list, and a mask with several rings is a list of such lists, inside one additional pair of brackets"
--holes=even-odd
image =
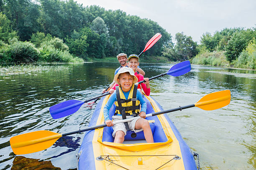
[[(0, 47), (5, 49), (16, 37), (20, 44), (30, 41), (40, 52), (51, 52), (54, 49), (49, 40), (57, 37), (67, 45), (64, 51), (87, 60), (113, 57), (121, 52), (139, 54), (157, 32), (162, 37), (146, 55), (161, 55), (162, 47), (172, 40), (152, 20), (95, 5), (83, 7), (74, 0), (0, 0), (0, 11)], [(2, 62), (18, 61), (13, 55), (4, 54), (3, 49), (0, 53)], [(29, 58), (36, 57), (26, 60)]]

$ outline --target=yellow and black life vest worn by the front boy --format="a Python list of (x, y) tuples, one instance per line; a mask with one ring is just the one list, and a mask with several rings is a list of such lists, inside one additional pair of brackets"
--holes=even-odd
[[(121, 87), (119, 86), (118, 89), (116, 89), (116, 98), (117, 101), (115, 101), (115, 115), (120, 114), (122, 115), (122, 111), (125, 110), (125, 115), (135, 115), (138, 116), (140, 111), (140, 101), (137, 100), (136, 94), (137, 94), (137, 85), (132, 85), (131, 90), (128, 95), (128, 99), (125, 99), (125, 96), (123, 94), (123, 91)], [(119, 103), (119, 104), (118, 104)], [(119, 107), (119, 105), (122, 105), (122, 107)]]

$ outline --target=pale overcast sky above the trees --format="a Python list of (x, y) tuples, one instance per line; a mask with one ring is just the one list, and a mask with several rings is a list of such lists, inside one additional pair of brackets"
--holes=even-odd
[(77, 0), (77, 3), (120, 9), (151, 19), (171, 33), (173, 41), (177, 32), (199, 42), (205, 32), (256, 27), (256, 0)]

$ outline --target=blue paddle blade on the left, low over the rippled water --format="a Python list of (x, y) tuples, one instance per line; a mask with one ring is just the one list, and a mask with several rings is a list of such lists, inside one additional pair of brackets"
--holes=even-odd
[(77, 112), (79, 108), (84, 104), (83, 101), (79, 100), (67, 100), (65, 102), (58, 103), (50, 107), (51, 117), (54, 119), (59, 119), (68, 115), (72, 115)]

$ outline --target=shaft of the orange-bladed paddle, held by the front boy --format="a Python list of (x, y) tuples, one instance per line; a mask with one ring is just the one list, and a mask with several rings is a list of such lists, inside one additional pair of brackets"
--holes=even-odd
[[(147, 114), (146, 117), (161, 115), (161, 114), (169, 113), (169, 112), (175, 112), (175, 111), (177, 111), (177, 110), (187, 109), (187, 108), (190, 108), (190, 107), (195, 107), (195, 104), (186, 105), (186, 106), (179, 106), (179, 107), (174, 108), (174, 109), (169, 109), (169, 110), (163, 110), (163, 111), (160, 111), (160, 112), (150, 113), (150, 114)], [(135, 118), (135, 117), (128, 118), (128, 119), (123, 119), (123, 120), (118, 120), (118, 121), (113, 122), (113, 124), (115, 125), (115, 124), (118, 124), (118, 123), (129, 122), (129, 121), (133, 120), (134, 118)], [(92, 127), (88, 127), (88, 128), (84, 128), (84, 129), (74, 130), (74, 131), (67, 132), (67, 133), (62, 133), (61, 135), (62, 135), (62, 136), (67, 136), (67, 135), (72, 135), (72, 134), (75, 134), (75, 133), (85, 132), (85, 131), (88, 131), (88, 130), (94, 130), (94, 129), (98, 129), (98, 128), (104, 128), (104, 127), (106, 127), (106, 126), (107, 126), (107, 125), (104, 123), (104, 124), (101, 124), (101, 125), (96, 125), (96, 126), (92, 126)]]

